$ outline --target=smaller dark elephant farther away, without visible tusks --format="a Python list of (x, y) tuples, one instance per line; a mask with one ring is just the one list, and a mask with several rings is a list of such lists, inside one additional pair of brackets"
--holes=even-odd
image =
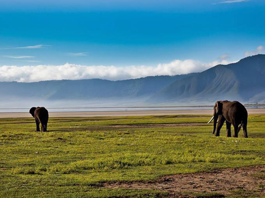
[(33, 118), (35, 118), (36, 122), (36, 131), (40, 131), (40, 123), (41, 123), (41, 131), (47, 132), (47, 124), (49, 119), (49, 114), (47, 109), (44, 107), (32, 107), (29, 110), (29, 113), (32, 115)]

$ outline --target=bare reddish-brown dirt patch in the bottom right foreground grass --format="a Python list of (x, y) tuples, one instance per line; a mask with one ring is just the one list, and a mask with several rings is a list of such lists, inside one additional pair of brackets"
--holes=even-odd
[(265, 196), (265, 179), (255, 177), (261, 171), (265, 171), (264, 165), (169, 175), (146, 182), (104, 183), (103, 188), (152, 189), (167, 191), (175, 196), (183, 192), (229, 195), (232, 191), (246, 190)]

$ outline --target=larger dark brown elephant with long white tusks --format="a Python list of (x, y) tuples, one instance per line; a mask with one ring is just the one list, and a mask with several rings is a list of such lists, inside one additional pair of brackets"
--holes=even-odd
[(240, 131), (241, 127), (243, 127), (244, 137), (248, 137), (248, 112), (244, 105), (242, 105), (240, 102), (231, 102), (227, 100), (217, 101), (213, 108), (213, 117), (207, 124), (209, 124), (213, 119), (213, 134), (216, 129), (216, 123), (218, 122), (215, 136), (220, 135), (220, 130), (225, 121), (227, 137), (231, 137), (231, 124), (234, 127), (234, 137), (238, 137), (238, 132)]

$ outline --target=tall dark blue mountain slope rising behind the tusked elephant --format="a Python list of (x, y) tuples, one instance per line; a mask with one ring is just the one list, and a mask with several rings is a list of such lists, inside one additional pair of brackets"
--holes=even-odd
[(149, 102), (240, 100), (264, 101), (265, 55), (217, 65), (167, 85)]

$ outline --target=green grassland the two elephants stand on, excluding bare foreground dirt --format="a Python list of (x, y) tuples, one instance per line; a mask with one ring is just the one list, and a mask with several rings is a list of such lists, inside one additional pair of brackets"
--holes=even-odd
[[(31, 118), (0, 119), (0, 198), (167, 197), (154, 190), (100, 186), (265, 164), (265, 115), (249, 116), (250, 138), (242, 132), (239, 138), (227, 138), (225, 126), (214, 137), (212, 125), (205, 124), (209, 119), (50, 118), (49, 132), (35, 132)], [(257, 194), (241, 191), (230, 197), (246, 196)]]

